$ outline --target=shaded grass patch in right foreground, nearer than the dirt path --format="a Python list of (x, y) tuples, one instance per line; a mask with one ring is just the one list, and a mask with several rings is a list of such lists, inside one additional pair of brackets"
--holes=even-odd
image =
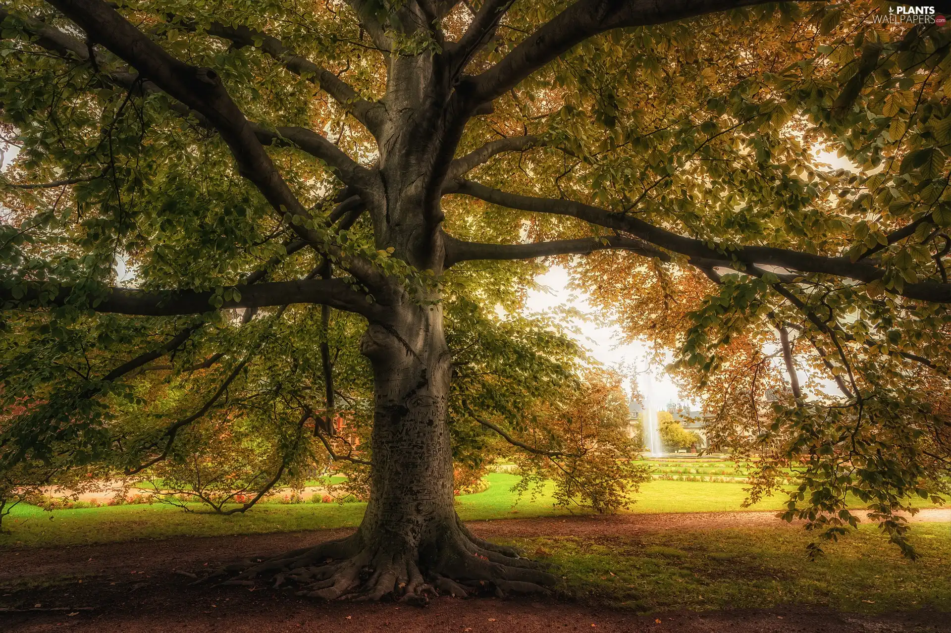
[(951, 611), (951, 527), (920, 524), (908, 561), (873, 526), (805, 557), (811, 535), (784, 528), (666, 530), (605, 539), (510, 541), (554, 565), (564, 591), (637, 611), (812, 604), (880, 613)]

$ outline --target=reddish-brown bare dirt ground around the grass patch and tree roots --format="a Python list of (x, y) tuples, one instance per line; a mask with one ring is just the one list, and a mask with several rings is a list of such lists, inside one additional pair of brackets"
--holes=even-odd
[[(924, 510), (915, 521), (951, 522), (951, 510)], [(626, 514), (473, 522), (487, 538), (604, 536), (670, 528), (786, 525), (772, 512)], [(97, 546), (0, 552), (0, 631), (829, 631), (880, 633), (951, 631), (945, 613), (918, 611), (869, 617), (816, 609), (764, 609), (638, 616), (568, 602), (439, 598), (424, 609), (400, 604), (320, 604), (292, 593), (244, 586), (188, 586), (180, 572), (252, 554), (305, 547), (349, 529), (297, 533), (173, 538)], [(13, 602), (10, 602), (13, 601)], [(62, 610), (48, 610), (62, 609)], [(660, 622), (657, 622), (657, 621)]]

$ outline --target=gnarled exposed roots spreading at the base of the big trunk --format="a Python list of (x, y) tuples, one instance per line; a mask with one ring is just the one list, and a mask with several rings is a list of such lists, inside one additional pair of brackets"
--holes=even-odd
[(222, 585), (294, 585), (297, 595), (321, 600), (394, 599), (417, 605), (439, 595), (548, 595), (547, 587), (557, 582), (514, 547), (483, 541), (458, 521), (438, 539), (416, 547), (399, 539), (368, 544), (358, 532), (340, 541), (223, 566), (208, 578), (217, 577), (226, 579)]

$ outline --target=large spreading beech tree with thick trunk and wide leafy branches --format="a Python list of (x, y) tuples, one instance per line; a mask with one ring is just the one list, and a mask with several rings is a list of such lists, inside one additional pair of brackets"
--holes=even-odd
[[(327, 599), (543, 590), (553, 575), (456, 517), (444, 318), (459, 286), (491, 308), (505, 295), (494, 284), (531, 277), (519, 262), (565, 256), (631, 336), (678, 350), (711, 437), (766, 457), (754, 495), (792, 465), (790, 517), (835, 536), (856, 521), (855, 493), (912, 554), (895, 512), (946, 489), (949, 455), (951, 62), (947, 29), (878, 25), (879, 11), (4, 5), (3, 115), (20, 153), (5, 175), (0, 299), (7, 354), (29, 351), (4, 378), (5, 400), (29, 404), (5, 430), (5, 464), (52, 463), (57, 442), (74, 443), (76, 463), (129, 451), (102, 430), (144, 406), (145, 370), (167, 356), (171, 371), (199, 371), (226, 355), (209, 340), (242, 341), (209, 374), (208, 406), (132, 451), (128, 470), (158, 464), (256, 350), (299, 326), (324, 336), (341, 311), (359, 319), (372, 367), (363, 522), (230, 571), (279, 572)], [(119, 256), (135, 287), (114, 281)], [(301, 304), (320, 306), (322, 335), (294, 320)], [(299, 350), (271, 355), (271, 371), (329, 374), (326, 347)], [(80, 387), (44, 389), (67, 371)], [(823, 396), (820, 377), (841, 394)], [(324, 409), (334, 393), (328, 382)], [(315, 415), (294, 397), (291, 442)], [(573, 454), (476, 422), (535, 457)]]

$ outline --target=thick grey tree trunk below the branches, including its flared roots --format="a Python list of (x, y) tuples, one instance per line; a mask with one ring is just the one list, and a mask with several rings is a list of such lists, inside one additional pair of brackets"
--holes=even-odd
[(453, 453), (447, 424), (451, 357), (438, 305), (401, 307), (371, 323), (361, 351), (373, 364), (376, 412), (370, 503), (359, 529), (340, 541), (228, 566), (247, 582), (273, 575), (303, 585), (301, 595), (423, 604), (438, 593), (465, 597), (546, 592), (552, 574), (512, 547), (474, 536), (453, 506)]

